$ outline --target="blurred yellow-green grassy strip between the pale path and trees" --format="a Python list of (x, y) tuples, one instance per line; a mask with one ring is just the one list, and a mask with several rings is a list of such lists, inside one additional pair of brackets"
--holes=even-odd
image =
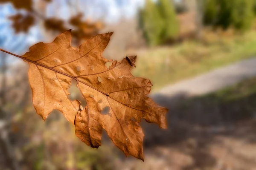
[(203, 42), (189, 40), (169, 47), (141, 50), (134, 75), (151, 79), (156, 91), (181, 79), (256, 55), (256, 31), (245, 34), (204, 33)]

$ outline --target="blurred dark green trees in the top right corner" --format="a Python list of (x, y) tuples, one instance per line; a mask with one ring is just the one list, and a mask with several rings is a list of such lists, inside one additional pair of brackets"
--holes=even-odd
[(205, 0), (204, 23), (244, 31), (253, 23), (254, 0)]

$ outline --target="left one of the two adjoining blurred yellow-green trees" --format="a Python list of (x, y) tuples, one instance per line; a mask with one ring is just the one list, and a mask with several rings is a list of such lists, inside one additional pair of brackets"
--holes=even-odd
[(140, 11), (139, 22), (148, 45), (158, 45), (162, 42), (164, 20), (156, 4), (151, 0), (147, 0), (144, 9)]

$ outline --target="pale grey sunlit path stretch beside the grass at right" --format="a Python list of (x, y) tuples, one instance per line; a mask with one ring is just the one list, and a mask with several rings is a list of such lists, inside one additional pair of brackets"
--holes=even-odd
[(155, 94), (164, 96), (175, 96), (177, 94), (186, 94), (186, 96), (203, 95), (254, 76), (256, 76), (256, 58), (237, 62), (198, 77), (177, 82)]

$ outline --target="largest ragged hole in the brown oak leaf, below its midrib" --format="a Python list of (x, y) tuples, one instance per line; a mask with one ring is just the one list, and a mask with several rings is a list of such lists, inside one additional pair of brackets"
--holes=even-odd
[(86, 101), (84, 100), (84, 97), (82, 96), (81, 91), (76, 85), (77, 85), (76, 80), (72, 79), (70, 88), (67, 89), (67, 92), (70, 94), (68, 95), (68, 98), (71, 101), (78, 99), (79, 101), (81, 101), (81, 105), (84, 108), (87, 105)]

